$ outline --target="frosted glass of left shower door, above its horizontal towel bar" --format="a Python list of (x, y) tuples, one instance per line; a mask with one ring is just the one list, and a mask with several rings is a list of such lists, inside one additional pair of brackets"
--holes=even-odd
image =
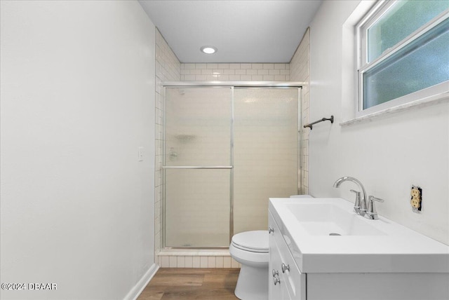
[(231, 88), (166, 89), (166, 165), (230, 165)]

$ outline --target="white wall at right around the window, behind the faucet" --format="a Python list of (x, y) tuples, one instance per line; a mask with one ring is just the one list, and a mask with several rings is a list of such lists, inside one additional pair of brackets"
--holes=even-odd
[[(380, 215), (449, 244), (448, 101), (339, 125), (355, 101), (342, 25), (358, 3), (323, 1), (311, 22), (309, 120), (333, 114), (335, 122), (310, 132), (309, 193), (352, 201), (355, 185), (332, 186), (339, 177), (356, 177), (368, 194), (384, 198), (376, 203)], [(423, 189), (422, 214), (410, 208), (412, 184)]]

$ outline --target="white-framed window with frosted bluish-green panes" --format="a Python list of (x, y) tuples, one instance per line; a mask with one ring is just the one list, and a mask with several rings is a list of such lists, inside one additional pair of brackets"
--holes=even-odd
[(449, 1), (379, 1), (356, 28), (357, 116), (449, 90)]

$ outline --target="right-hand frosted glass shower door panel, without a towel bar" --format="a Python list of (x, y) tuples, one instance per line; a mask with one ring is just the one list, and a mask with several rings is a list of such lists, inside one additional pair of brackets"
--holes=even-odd
[(266, 230), (268, 199), (297, 193), (297, 88), (236, 88), (234, 109), (234, 234)]

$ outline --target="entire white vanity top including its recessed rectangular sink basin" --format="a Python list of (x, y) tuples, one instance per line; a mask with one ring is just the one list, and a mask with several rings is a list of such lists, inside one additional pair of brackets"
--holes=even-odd
[(270, 198), (269, 212), (303, 273), (449, 273), (449, 246), (342, 198)]

